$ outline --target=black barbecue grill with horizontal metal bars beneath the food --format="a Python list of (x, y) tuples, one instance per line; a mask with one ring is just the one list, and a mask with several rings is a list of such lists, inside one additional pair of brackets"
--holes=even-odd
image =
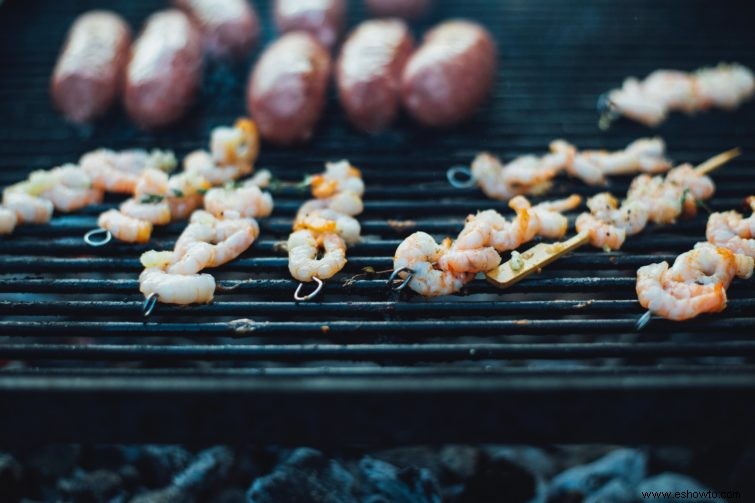
[[(256, 1), (270, 40), (268, 2)], [(361, 4), (361, 3), (360, 3)], [(103, 2), (10, 0), (0, 8), (0, 184), (75, 161), (98, 147), (203, 148), (212, 127), (243, 114), (244, 65), (214, 64), (196, 110), (177, 128), (146, 134), (120, 111), (76, 129), (51, 110), (48, 78), (74, 17)], [(163, 2), (119, 2), (137, 28)], [(352, 3), (351, 25), (363, 17)], [(259, 167), (286, 180), (347, 158), (364, 174), (364, 240), (314, 301), (276, 244), (307, 194), (275, 195), (258, 242), (216, 270), (213, 304), (158, 305), (144, 319), (139, 255), (172, 245), (183, 224), (147, 246), (90, 248), (83, 234), (117, 201), (22, 226), (0, 239), (0, 441), (275, 442), (752, 442), (755, 293), (729, 290), (728, 309), (686, 323), (642, 310), (634, 273), (704, 239), (706, 213), (648, 229), (617, 253), (581, 249), (500, 291), (483, 280), (464, 295), (426, 300), (386, 288), (400, 240), (453, 235), (476, 210), (503, 209), (475, 189), (454, 189), (449, 166), (481, 149), (506, 160), (564, 137), (584, 148), (623, 148), (653, 134), (626, 120), (597, 127), (595, 104), (629, 75), (693, 70), (719, 61), (755, 67), (750, 2), (441, 1), (433, 22), (463, 16), (496, 36), (493, 99), (455, 130), (403, 120), (367, 137), (349, 128), (331, 96), (311, 144), (264, 148)], [(700, 162), (740, 146), (715, 173), (713, 210), (738, 208), (755, 177), (755, 106), (658, 131), (671, 157)], [(629, 179), (612, 180), (625, 193)], [(549, 195), (596, 192), (559, 179)], [(570, 221), (573, 224), (574, 214)], [(372, 268), (365, 272), (363, 268)], [(358, 276), (359, 275), (359, 276)]]

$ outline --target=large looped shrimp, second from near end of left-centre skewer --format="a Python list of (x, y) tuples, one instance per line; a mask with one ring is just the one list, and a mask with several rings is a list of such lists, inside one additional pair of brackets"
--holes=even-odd
[(240, 218), (228, 211), (223, 219), (195, 211), (174, 248), (171, 274), (194, 274), (206, 267), (217, 267), (245, 252), (259, 236), (259, 226), (251, 218)]

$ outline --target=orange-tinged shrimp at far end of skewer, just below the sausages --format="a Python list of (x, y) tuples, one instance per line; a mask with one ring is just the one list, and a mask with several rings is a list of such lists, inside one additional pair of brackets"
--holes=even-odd
[(239, 119), (233, 127), (213, 129), (210, 150), (212, 160), (218, 166), (251, 167), (260, 151), (257, 125), (249, 119)]

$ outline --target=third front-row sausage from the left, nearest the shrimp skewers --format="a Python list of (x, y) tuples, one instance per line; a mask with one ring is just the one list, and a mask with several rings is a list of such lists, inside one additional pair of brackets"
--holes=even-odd
[(288, 33), (270, 45), (247, 87), (260, 135), (281, 145), (309, 139), (325, 105), (329, 74), (330, 55), (307, 33)]

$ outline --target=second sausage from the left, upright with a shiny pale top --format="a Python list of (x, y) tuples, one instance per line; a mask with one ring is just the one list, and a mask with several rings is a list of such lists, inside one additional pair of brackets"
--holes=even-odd
[(180, 119), (194, 101), (202, 78), (202, 35), (177, 9), (147, 18), (131, 48), (124, 105), (145, 128)]

